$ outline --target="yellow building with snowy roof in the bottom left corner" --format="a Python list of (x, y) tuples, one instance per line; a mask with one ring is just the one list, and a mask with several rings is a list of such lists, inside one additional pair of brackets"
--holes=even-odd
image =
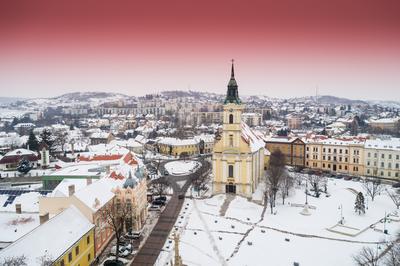
[[(25, 256), (26, 265), (88, 266), (94, 260), (94, 225), (70, 206), (0, 251), (5, 258)], [(47, 264), (46, 264), (47, 265)]]

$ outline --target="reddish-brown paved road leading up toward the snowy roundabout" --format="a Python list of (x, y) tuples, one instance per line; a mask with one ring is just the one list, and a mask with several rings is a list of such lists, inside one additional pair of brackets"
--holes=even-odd
[[(161, 166), (164, 167), (164, 164)], [(209, 162), (205, 161), (201, 166), (205, 169), (210, 169), (211, 165)], [(198, 169), (197, 171), (199, 171)], [(167, 240), (169, 233), (174, 227), (174, 224), (178, 218), (181, 211), (184, 200), (179, 199), (178, 195), (185, 194), (187, 189), (191, 184), (191, 178), (193, 174), (186, 176), (168, 176), (167, 179), (171, 183), (173, 189), (173, 195), (169, 200), (166, 208), (161, 213), (157, 224), (155, 225), (153, 231), (150, 233), (146, 240), (146, 243), (139, 250), (138, 254), (133, 260), (131, 265), (140, 266), (153, 266), (163, 248), (165, 241)], [(186, 183), (182, 188), (177, 184), (177, 182), (186, 180)]]

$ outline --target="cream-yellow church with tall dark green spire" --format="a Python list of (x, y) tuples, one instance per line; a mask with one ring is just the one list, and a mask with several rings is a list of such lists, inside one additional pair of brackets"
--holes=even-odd
[(222, 134), (212, 156), (213, 194), (233, 193), (251, 198), (264, 174), (264, 141), (242, 121), (244, 104), (239, 98), (232, 62), (224, 101)]

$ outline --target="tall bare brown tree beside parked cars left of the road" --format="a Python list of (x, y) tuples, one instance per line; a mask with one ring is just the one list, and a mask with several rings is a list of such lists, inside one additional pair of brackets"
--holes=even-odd
[(128, 214), (132, 213), (132, 206), (126, 202), (114, 198), (106, 208), (102, 211), (102, 216), (107, 225), (113, 230), (117, 245), (115, 250), (115, 261), (119, 259), (119, 243), (124, 233), (124, 224), (128, 218)]

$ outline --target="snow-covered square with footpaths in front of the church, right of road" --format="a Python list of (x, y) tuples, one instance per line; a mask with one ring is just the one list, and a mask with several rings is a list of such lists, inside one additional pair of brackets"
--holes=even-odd
[[(186, 199), (176, 226), (180, 232), (180, 254), (187, 265), (272, 265), (350, 266), (352, 256), (364, 246), (380, 251), (398, 233), (398, 217), (380, 222), (386, 213), (396, 213), (391, 199), (382, 192), (374, 202), (369, 199), (366, 214), (354, 211), (359, 182), (330, 179), (328, 193), (308, 197), (310, 216), (300, 214), (305, 203), (304, 187), (293, 189), (286, 204), (278, 199), (277, 212), (236, 196), (226, 208), (225, 195), (207, 199)], [(367, 196), (365, 195), (367, 198)], [(339, 208), (343, 206), (343, 210)], [(336, 226), (343, 211), (344, 226)], [(397, 220), (397, 221), (395, 221)], [(374, 228), (371, 226), (374, 225)], [(386, 226), (388, 235), (382, 230)], [(334, 227), (333, 231), (328, 228)], [(345, 233), (345, 234), (343, 234)], [(354, 236), (346, 235), (354, 234)], [(172, 233), (171, 233), (171, 239)], [(167, 241), (158, 265), (166, 265), (173, 256), (173, 242)]]

